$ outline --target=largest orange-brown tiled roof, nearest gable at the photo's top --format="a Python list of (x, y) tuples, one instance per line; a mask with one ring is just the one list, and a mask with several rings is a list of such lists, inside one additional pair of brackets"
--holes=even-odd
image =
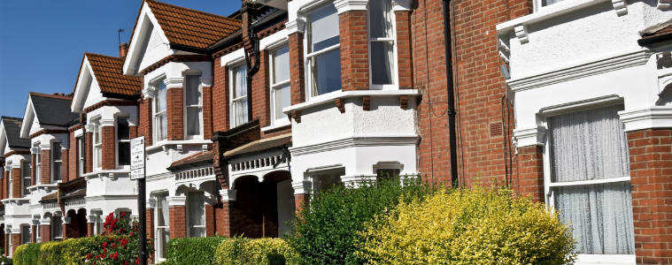
[(171, 44), (205, 49), (238, 30), (242, 22), (189, 8), (145, 0)]

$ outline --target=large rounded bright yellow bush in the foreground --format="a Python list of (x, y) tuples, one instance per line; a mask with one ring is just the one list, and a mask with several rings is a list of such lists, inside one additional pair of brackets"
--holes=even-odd
[(370, 264), (568, 264), (575, 241), (544, 205), (507, 189), (441, 191), (367, 223)]

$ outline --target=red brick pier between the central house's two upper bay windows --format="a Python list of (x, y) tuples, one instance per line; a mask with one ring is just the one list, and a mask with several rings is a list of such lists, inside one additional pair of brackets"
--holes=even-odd
[(368, 89), (367, 11), (338, 15), (343, 91)]

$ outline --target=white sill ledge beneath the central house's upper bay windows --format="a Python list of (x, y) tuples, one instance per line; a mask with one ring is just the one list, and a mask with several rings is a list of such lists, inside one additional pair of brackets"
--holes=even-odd
[(289, 113), (292, 110), (310, 109), (324, 103), (333, 103), (334, 100), (339, 98), (350, 98), (365, 95), (371, 97), (401, 96), (401, 95), (418, 96), (421, 95), (421, 93), (420, 90), (418, 89), (338, 91), (325, 94), (323, 96), (320, 96), (319, 98), (313, 97), (307, 102), (301, 102), (296, 105), (284, 108), (282, 109), (282, 112)]

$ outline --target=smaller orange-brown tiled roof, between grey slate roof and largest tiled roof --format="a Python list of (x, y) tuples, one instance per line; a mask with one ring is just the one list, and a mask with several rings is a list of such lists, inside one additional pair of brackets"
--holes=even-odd
[(100, 87), (100, 92), (115, 95), (136, 95), (143, 89), (143, 79), (124, 75), (121, 68), (123, 58), (108, 57), (99, 54), (85, 53), (89, 59), (91, 71)]

